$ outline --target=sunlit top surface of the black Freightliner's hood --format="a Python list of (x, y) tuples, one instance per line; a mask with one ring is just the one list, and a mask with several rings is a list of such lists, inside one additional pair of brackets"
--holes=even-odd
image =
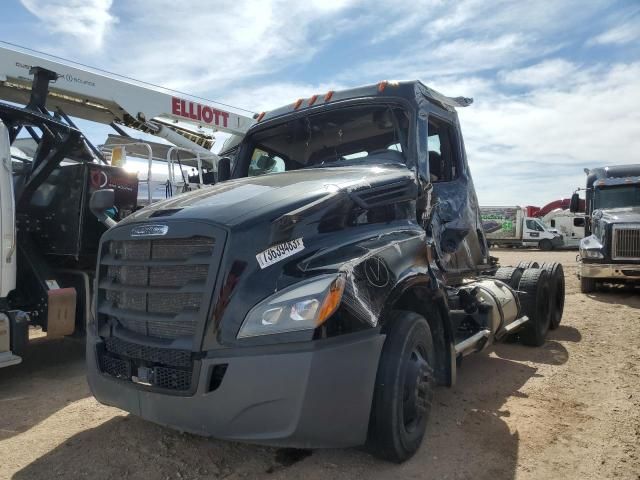
[(358, 192), (412, 179), (412, 171), (404, 165), (314, 168), (240, 178), (154, 203), (121, 223), (170, 217), (207, 219), (232, 226), (265, 211), (296, 208), (337, 191)]

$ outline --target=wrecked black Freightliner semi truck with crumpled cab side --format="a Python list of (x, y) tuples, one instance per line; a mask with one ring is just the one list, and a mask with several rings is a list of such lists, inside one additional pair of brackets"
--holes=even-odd
[(108, 230), (95, 397), (222, 439), (413, 455), (463, 356), (541, 345), (562, 316), (560, 265), (489, 254), (470, 103), (417, 81), (300, 99), (257, 116), (225, 181)]

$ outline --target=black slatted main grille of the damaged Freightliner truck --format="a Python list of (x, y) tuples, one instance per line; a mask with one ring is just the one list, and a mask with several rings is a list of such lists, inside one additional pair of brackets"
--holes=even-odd
[(103, 251), (99, 312), (146, 336), (195, 333), (206, 308), (211, 237), (112, 240)]

